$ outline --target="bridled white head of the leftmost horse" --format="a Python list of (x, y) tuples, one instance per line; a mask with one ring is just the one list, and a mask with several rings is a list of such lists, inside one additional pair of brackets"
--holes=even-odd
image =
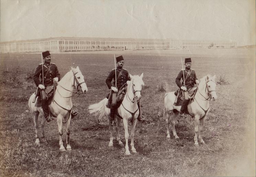
[(74, 75), (74, 87), (77, 88), (77, 90), (81, 89), (82, 93), (86, 93), (88, 91), (88, 88), (85, 83), (84, 76), (82, 75), (79, 67), (77, 66), (76, 68), (71, 67), (71, 70)]

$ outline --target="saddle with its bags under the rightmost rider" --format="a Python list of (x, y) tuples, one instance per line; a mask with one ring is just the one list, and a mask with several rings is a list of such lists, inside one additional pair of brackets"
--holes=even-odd
[[(189, 90), (188, 90), (188, 98), (189, 98), (189, 103), (191, 103), (193, 101), (193, 98), (197, 92), (197, 85), (194, 85), (193, 87), (191, 87)], [(181, 89), (178, 89), (174, 92), (174, 94), (177, 96), (175, 101), (174, 101), (174, 105), (175, 106), (180, 106), (182, 101), (185, 99), (183, 97), (183, 93), (181, 91)]]

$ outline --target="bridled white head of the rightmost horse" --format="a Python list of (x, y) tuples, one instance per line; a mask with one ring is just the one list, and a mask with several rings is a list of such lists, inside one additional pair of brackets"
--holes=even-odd
[[(201, 83), (205, 83), (205, 92), (208, 93), (208, 99), (211, 101), (215, 101), (215, 99), (217, 99), (217, 94), (216, 94), (216, 83), (215, 83), (215, 79), (216, 79), (216, 75), (211, 76), (211, 75), (207, 75), (205, 77), (203, 77), (200, 81)], [(200, 85), (199, 84), (199, 85)]]

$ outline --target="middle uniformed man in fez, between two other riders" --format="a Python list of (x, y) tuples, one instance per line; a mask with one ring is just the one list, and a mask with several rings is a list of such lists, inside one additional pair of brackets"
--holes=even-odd
[[(109, 75), (106, 79), (106, 84), (107, 84), (108, 88), (112, 90), (111, 91), (112, 92), (112, 102), (111, 102), (111, 106), (110, 106), (110, 124), (112, 126), (116, 126), (116, 122), (115, 122), (115, 112), (117, 109), (116, 94), (117, 94), (118, 90), (124, 84), (126, 84), (126, 82), (128, 80), (131, 80), (128, 71), (123, 68), (124, 59), (123, 59), (122, 55), (116, 57), (116, 64), (117, 64), (116, 69), (112, 69), (112, 71), (109, 73)], [(116, 78), (116, 87), (114, 86), (115, 78)], [(111, 81), (113, 79), (114, 79), (114, 82), (112, 84)], [(142, 121), (142, 118), (138, 117), (138, 121)]]

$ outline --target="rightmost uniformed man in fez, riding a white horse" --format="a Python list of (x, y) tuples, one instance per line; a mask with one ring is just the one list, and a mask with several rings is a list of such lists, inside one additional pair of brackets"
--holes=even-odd
[[(177, 86), (183, 91), (184, 100), (182, 101), (179, 118), (187, 117), (185, 115), (185, 111), (188, 106), (189, 98), (188, 98), (188, 90), (194, 86), (194, 84), (199, 84), (199, 80), (197, 79), (196, 72), (190, 68), (191, 67), (191, 58), (185, 58), (185, 69), (182, 69), (178, 76), (175, 79)], [(180, 80), (182, 78), (182, 83)], [(185, 79), (185, 86), (184, 86)]]

